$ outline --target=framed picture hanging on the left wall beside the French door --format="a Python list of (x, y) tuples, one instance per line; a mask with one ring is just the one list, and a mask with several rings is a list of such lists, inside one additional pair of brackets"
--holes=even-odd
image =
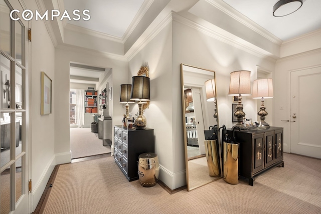
[(52, 109), (52, 80), (41, 71), (41, 115), (50, 114)]

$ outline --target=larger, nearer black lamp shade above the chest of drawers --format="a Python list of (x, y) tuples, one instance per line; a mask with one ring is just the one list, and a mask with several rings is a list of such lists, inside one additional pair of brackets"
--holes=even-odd
[(132, 77), (130, 99), (138, 100), (138, 101), (150, 100), (149, 77), (147, 76)]

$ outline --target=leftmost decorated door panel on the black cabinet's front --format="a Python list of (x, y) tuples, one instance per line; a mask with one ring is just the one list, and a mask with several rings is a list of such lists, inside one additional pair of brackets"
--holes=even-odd
[(264, 153), (263, 150), (263, 143), (264, 143), (264, 134), (257, 134), (253, 136), (253, 146), (254, 146), (254, 166), (253, 166), (253, 173), (263, 169), (264, 167)]

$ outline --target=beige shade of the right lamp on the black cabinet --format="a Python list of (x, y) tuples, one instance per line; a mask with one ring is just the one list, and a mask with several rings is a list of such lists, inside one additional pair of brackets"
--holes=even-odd
[(271, 78), (255, 79), (253, 81), (253, 94), (254, 99), (259, 98), (272, 98), (273, 97), (273, 82)]

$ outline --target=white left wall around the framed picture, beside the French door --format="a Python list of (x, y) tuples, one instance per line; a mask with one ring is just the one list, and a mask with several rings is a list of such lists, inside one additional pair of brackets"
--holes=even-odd
[[(34, 1), (28, 1), (27, 7), (38, 9)], [(44, 21), (32, 20), (32, 60), (31, 60), (31, 173), (32, 208), (36, 208), (45, 189), (55, 162), (55, 47), (52, 44)], [(52, 113), (41, 115), (40, 73), (44, 71), (52, 79)]]

